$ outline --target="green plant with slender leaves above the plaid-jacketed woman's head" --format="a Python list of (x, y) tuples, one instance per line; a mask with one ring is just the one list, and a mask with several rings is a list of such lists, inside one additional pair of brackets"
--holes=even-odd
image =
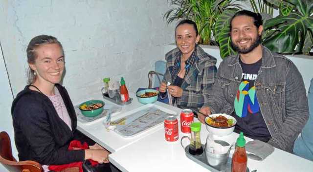
[(240, 5), (232, 0), (171, 0), (171, 4), (176, 7), (168, 10), (163, 18), (168, 24), (183, 19), (195, 21), (202, 44), (212, 44), (213, 38), (216, 40), (219, 30), (215, 30), (215, 24), (224, 11), (241, 9)]

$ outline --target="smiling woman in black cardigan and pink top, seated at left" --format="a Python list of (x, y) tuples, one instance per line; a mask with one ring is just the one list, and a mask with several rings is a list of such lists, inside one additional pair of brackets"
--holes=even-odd
[[(14, 99), (11, 110), (20, 161), (37, 161), (45, 171), (50, 165), (85, 159), (108, 163), (109, 152), (76, 129), (74, 107), (65, 87), (59, 85), (65, 70), (62, 44), (55, 37), (40, 35), (26, 51), (29, 85)], [(68, 150), (72, 140), (88, 141), (92, 146)]]

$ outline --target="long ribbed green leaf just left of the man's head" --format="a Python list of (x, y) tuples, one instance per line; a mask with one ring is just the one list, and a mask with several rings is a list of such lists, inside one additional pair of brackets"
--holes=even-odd
[(224, 59), (229, 55), (236, 54), (236, 52), (231, 47), (231, 38), (229, 36), (229, 22), (231, 17), (239, 11), (238, 9), (228, 9), (219, 16), (215, 23), (214, 35), (215, 40), (219, 43), (220, 46), (220, 55)]

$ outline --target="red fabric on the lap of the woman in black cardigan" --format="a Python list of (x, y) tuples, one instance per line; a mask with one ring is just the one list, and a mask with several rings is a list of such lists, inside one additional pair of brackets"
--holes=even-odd
[[(87, 150), (87, 149), (89, 149), (88, 144), (86, 142), (84, 142), (84, 144), (82, 144), (78, 140), (72, 140), (68, 146), (68, 150)], [(89, 162), (91, 163), (91, 166), (98, 165), (97, 161), (93, 161), (93, 160), (89, 159)], [(80, 161), (80, 162), (73, 162), (73, 163), (63, 164), (63, 165), (50, 165), (48, 167), (48, 169), (51, 171), (60, 172), (60, 171), (67, 169), (67, 168), (79, 167), (79, 172), (83, 172), (82, 165), (83, 165), (83, 162)]]

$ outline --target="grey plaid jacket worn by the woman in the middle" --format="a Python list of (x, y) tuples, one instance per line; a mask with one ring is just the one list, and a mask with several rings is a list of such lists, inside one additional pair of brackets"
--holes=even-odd
[[(177, 98), (176, 104), (182, 108), (201, 108), (207, 102), (215, 81), (217, 67), (216, 58), (208, 55), (204, 50), (196, 45), (196, 62), (190, 67), (189, 72), (181, 84), (182, 96)], [(175, 48), (165, 55), (166, 71), (163, 82), (173, 83), (172, 71), (175, 60), (179, 59), (181, 52)]]

